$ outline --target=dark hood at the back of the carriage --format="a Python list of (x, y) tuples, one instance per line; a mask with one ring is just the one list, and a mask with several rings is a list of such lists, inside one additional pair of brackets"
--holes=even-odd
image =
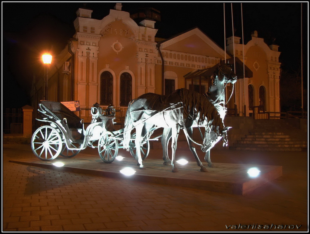
[(75, 115), (71, 110), (69, 110), (66, 106), (64, 106), (62, 103), (57, 101), (40, 101), (40, 104), (45, 106), (46, 109), (48, 109), (52, 114), (54, 114), (57, 118), (60, 120), (64, 120), (64, 118), (67, 119), (67, 124), (70, 129), (81, 129), (82, 123), (81, 119)]

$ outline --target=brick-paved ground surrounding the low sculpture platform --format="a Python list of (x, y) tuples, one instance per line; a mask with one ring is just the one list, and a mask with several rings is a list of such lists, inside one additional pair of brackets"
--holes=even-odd
[[(91, 148), (78, 156), (100, 160)], [(145, 162), (161, 158), (151, 149)], [(3, 145), (4, 232), (308, 231), (307, 152), (211, 151), (215, 164), (282, 166), (283, 176), (244, 196), (9, 162), (28, 159), (29, 145)]]

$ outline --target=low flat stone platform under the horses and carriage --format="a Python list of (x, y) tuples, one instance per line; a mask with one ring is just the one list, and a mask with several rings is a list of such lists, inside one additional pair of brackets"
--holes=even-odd
[[(63, 167), (55, 167), (53, 163), (61, 161)], [(201, 172), (196, 162), (177, 165), (179, 172), (171, 172), (171, 165), (163, 165), (163, 160), (146, 159), (143, 164), (146, 169), (139, 169), (137, 162), (131, 157), (122, 161), (115, 160), (111, 164), (104, 163), (98, 155), (76, 155), (73, 158), (57, 157), (52, 161), (33, 159), (11, 160), (14, 163), (44, 167), (53, 170), (71, 171), (93, 174), (111, 178), (122, 178), (132, 181), (157, 183), (170, 186), (188, 187), (228, 194), (245, 195), (256, 188), (282, 176), (282, 166), (214, 163), (215, 168), (207, 168), (208, 172)], [(132, 176), (120, 173), (125, 167), (136, 171)], [(249, 177), (247, 171), (256, 167), (260, 170), (256, 178)]]

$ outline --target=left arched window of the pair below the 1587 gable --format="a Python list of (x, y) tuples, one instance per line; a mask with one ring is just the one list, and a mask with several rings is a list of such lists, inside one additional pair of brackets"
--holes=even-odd
[(113, 75), (108, 71), (104, 71), (100, 76), (100, 83), (100, 104), (113, 104)]

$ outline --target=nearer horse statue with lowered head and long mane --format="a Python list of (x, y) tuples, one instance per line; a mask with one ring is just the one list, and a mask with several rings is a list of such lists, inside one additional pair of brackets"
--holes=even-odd
[[(180, 128), (191, 129), (195, 124), (205, 126), (208, 131), (213, 131), (217, 137), (223, 137), (223, 141), (227, 142), (228, 128), (224, 127), (215, 106), (203, 95), (184, 88), (177, 89), (170, 95), (146, 93), (132, 100), (128, 105), (123, 146), (129, 149), (131, 130), (135, 128), (136, 156), (140, 169), (144, 169), (141, 152), (138, 150), (141, 142), (152, 134), (155, 126), (169, 128), (172, 134), (172, 171), (177, 172), (175, 150), (179, 130)], [(206, 171), (197, 154), (194, 156), (201, 171)]]

